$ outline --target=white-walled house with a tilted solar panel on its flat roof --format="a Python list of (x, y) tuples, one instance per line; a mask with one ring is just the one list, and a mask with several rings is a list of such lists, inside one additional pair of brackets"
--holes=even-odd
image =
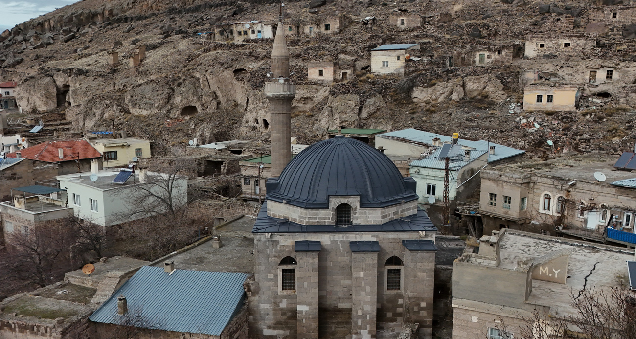
[[(127, 197), (135, 191), (138, 192), (141, 185), (145, 185), (144, 187), (153, 192), (160, 192), (160, 188), (144, 181), (144, 175), (141, 175), (144, 182), (140, 183), (139, 172), (130, 176), (123, 184), (113, 183), (119, 173), (119, 169), (99, 171), (96, 173), (95, 181), (90, 179), (90, 172), (66, 174), (57, 176), (57, 179), (60, 181), (60, 188), (67, 190), (69, 207), (73, 207), (80, 218), (90, 219), (93, 223), (102, 226), (113, 226), (149, 216), (138, 214), (132, 218), (123, 218), (134, 210)], [(146, 177), (160, 175), (165, 176), (165, 174), (148, 172)], [(176, 201), (176, 207), (181, 207), (188, 201), (187, 186), (186, 177), (178, 177), (175, 180), (172, 197)]]

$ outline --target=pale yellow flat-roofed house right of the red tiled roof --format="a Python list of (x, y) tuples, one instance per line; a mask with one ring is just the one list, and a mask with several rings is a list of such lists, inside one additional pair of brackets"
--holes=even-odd
[(104, 169), (128, 166), (135, 156), (149, 158), (150, 142), (142, 139), (98, 139), (89, 140), (90, 144), (102, 153)]

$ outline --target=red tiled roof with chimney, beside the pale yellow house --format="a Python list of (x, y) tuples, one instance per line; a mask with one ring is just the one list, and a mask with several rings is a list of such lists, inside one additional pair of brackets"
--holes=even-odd
[[(64, 158), (60, 159), (58, 149), (64, 149)], [(102, 154), (85, 140), (71, 141), (47, 141), (36, 146), (31, 146), (20, 150), (22, 158), (39, 160), (42, 162), (68, 162), (79, 159), (101, 158)], [(15, 152), (7, 155), (8, 158), (15, 158)]]

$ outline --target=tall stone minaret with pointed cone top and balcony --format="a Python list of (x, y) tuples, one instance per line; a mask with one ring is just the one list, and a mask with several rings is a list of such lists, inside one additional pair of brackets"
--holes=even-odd
[(291, 160), (291, 100), (296, 97), (296, 85), (289, 81), (289, 51), (280, 22), (272, 47), (270, 80), (265, 83), (265, 97), (270, 101), (272, 177), (278, 177)]

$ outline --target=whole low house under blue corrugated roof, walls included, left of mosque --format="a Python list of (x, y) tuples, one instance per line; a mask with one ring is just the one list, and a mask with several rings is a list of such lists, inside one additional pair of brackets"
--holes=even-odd
[(135, 338), (247, 339), (245, 278), (179, 270), (172, 261), (165, 268), (142, 266), (88, 317), (94, 338), (112, 338), (135, 319), (141, 332)]

